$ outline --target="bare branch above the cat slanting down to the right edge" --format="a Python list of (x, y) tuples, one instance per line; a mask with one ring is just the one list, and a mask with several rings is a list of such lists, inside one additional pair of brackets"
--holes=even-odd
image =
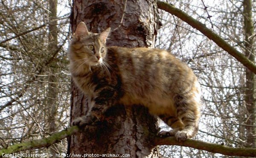
[(235, 57), (240, 63), (242, 63), (245, 67), (250, 69), (254, 74), (256, 74), (256, 64), (250, 61), (245, 55), (241, 52), (236, 50), (233, 46), (228, 44), (223, 38), (221, 38), (218, 34), (215, 34), (211, 29), (208, 29), (203, 23), (195, 20), (193, 17), (189, 16), (188, 14), (184, 13), (180, 9), (175, 8), (175, 6), (170, 5), (166, 2), (157, 1), (157, 7), (164, 11), (169, 12), (181, 20), (188, 23), (193, 28), (197, 29), (198, 31), (202, 32), (206, 35), (209, 39), (213, 40), (219, 47), (227, 51), (230, 55)]

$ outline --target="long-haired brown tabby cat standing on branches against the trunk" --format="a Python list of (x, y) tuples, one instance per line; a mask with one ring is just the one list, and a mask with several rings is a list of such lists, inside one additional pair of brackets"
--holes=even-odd
[(111, 105), (141, 104), (157, 115), (177, 141), (198, 132), (201, 89), (185, 63), (162, 49), (106, 46), (110, 28), (96, 34), (79, 23), (70, 43), (70, 72), (76, 86), (90, 98), (90, 112), (73, 125), (101, 120)]

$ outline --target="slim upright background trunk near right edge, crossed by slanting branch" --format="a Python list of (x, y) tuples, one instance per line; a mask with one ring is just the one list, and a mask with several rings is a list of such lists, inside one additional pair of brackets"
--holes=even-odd
[[(254, 55), (254, 40), (253, 36), (253, 18), (252, 18), (252, 0), (244, 0), (244, 34), (245, 34), (245, 55), (250, 61), (255, 63)], [(249, 69), (245, 70), (246, 73), (246, 90), (245, 90), (245, 103), (247, 108), (246, 133), (247, 133), (247, 146), (256, 147), (256, 77)]]

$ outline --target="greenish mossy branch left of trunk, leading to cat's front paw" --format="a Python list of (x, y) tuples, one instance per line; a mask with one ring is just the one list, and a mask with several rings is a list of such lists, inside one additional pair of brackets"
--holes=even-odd
[(57, 132), (44, 139), (32, 140), (32, 141), (27, 141), (20, 144), (14, 144), (12, 146), (7, 147), (6, 149), (1, 149), (0, 156), (2, 156), (2, 154), (12, 154), (15, 152), (20, 152), (20, 151), (29, 150), (29, 149), (39, 149), (39, 148), (49, 147), (52, 144), (55, 144), (61, 141), (62, 139), (75, 134), (78, 131), (79, 131), (78, 126), (71, 126), (68, 129), (64, 129), (61, 132)]

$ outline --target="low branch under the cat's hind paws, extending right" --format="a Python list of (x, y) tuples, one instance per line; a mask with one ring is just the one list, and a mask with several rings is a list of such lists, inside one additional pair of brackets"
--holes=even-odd
[(183, 142), (178, 142), (174, 137), (168, 138), (159, 138), (156, 137), (154, 140), (154, 145), (178, 145), (183, 147), (191, 147), (199, 150), (205, 150), (213, 153), (220, 153), (223, 155), (230, 156), (246, 156), (246, 157), (255, 157), (256, 149), (255, 148), (233, 148), (226, 147), (220, 144), (207, 143), (204, 141), (188, 139)]

